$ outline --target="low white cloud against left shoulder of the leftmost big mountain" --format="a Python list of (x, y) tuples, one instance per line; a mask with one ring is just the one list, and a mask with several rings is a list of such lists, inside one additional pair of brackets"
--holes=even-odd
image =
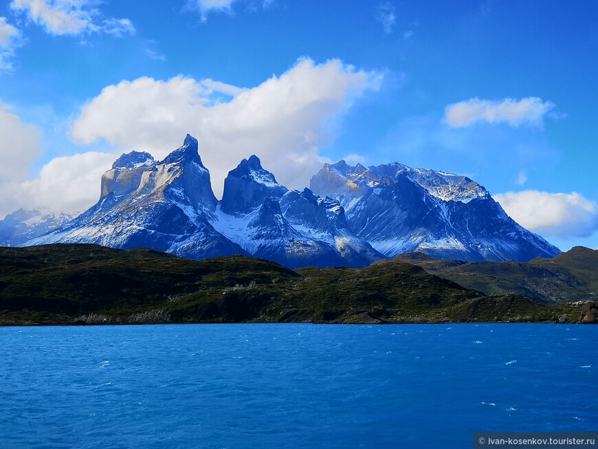
[(80, 212), (100, 198), (100, 179), (114, 154), (89, 152), (55, 157), (35, 179), (0, 183), (0, 217), (18, 209)]

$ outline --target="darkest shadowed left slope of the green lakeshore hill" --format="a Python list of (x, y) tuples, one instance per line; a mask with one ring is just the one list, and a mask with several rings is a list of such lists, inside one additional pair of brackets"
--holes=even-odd
[(112, 320), (162, 309), (197, 292), (209, 295), (236, 284), (300, 279), (285, 267), (259, 259), (191, 261), (154, 250), (98, 245), (1, 248), (0, 270), (0, 314), (32, 322), (69, 322), (89, 314)]

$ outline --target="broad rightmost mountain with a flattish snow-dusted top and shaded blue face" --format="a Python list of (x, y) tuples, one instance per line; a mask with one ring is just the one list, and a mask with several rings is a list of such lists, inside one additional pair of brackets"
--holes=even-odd
[(529, 261), (560, 252), (465, 176), (341, 161), (324, 164), (311, 190), (339, 201), (351, 230), (387, 257), (419, 251), (440, 259)]

